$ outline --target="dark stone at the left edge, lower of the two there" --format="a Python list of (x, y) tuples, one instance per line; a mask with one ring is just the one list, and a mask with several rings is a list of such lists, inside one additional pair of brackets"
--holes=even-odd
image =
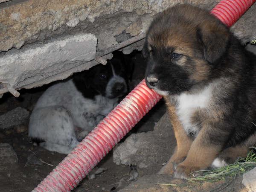
[(18, 162), (18, 157), (12, 146), (8, 143), (0, 143), (0, 166), (6, 166)]

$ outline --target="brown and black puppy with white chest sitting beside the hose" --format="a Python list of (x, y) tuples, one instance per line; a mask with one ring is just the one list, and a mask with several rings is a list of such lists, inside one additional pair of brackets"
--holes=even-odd
[(166, 100), (177, 140), (160, 174), (186, 178), (256, 144), (256, 56), (221, 21), (190, 5), (166, 9), (148, 29), (143, 56), (146, 84)]

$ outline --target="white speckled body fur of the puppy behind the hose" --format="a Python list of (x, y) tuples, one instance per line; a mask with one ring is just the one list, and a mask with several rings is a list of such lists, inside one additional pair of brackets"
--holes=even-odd
[[(110, 87), (108, 87), (110, 88)], [(90, 132), (116, 105), (118, 99), (98, 95), (84, 98), (72, 80), (49, 87), (39, 98), (29, 121), (29, 137), (42, 139), (49, 151), (68, 154), (79, 141), (75, 128)]]

